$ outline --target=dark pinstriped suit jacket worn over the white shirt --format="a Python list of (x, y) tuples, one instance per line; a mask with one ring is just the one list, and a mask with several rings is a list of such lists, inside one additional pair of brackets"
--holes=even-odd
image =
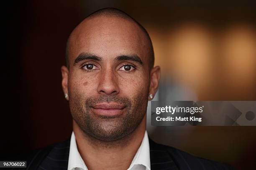
[[(27, 159), (27, 170), (67, 170), (70, 138), (34, 151)], [(198, 158), (149, 138), (151, 170), (234, 170), (212, 160)], [(17, 168), (13, 168), (17, 170)]]

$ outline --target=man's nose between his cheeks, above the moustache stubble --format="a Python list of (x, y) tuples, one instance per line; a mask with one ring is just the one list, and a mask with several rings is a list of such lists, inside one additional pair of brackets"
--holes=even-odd
[(101, 72), (100, 82), (97, 88), (98, 93), (105, 95), (116, 95), (119, 93), (119, 86), (115, 72), (111, 69)]

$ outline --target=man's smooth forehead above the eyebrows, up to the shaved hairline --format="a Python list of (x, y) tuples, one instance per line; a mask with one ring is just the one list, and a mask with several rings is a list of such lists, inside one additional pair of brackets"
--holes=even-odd
[(69, 38), (69, 61), (82, 52), (100, 57), (116, 57), (122, 54), (138, 55), (146, 62), (149, 53), (148, 40), (139, 26), (129, 20), (100, 16), (80, 23)]

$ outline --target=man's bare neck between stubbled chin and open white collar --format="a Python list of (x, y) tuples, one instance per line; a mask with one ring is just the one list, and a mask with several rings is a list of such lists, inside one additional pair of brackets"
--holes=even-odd
[(120, 140), (100, 141), (85, 134), (73, 120), (78, 151), (89, 170), (128, 169), (146, 130), (146, 114), (131, 134)]

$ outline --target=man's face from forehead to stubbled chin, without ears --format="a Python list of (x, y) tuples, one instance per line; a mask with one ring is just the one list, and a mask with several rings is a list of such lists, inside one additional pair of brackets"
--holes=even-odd
[(113, 141), (145, 116), (150, 87), (148, 41), (135, 23), (86, 20), (69, 40), (68, 95), (72, 117), (87, 135)]

